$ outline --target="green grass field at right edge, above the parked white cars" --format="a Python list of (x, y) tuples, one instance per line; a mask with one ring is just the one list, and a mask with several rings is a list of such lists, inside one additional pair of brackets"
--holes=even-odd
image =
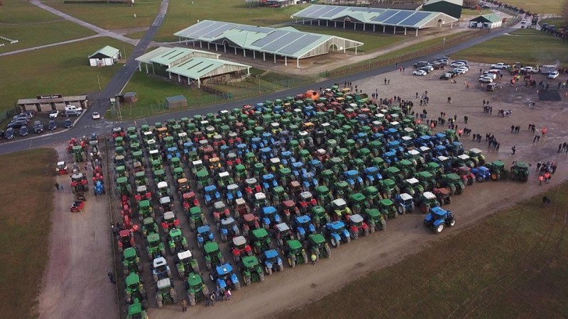
[[(542, 48), (546, 50), (542, 50)], [(517, 30), (452, 55), (454, 59), (475, 62), (522, 62), (525, 65), (568, 65), (566, 43), (537, 30)]]

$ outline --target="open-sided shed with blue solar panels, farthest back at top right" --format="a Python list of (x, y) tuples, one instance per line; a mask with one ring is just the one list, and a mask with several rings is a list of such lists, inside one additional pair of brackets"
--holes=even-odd
[[(442, 27), (442, 25), (457, 22), (458, 19), (448, 16), (446, 13), (415, 11), (415, 10), (398, 10), (398, 9), (378, 9), (363, 8), (358, 6), (324, 6), (313, 4), (306, 9), (298, 11), (292, 15), (296, 19), (296, 23), (317, 26), (332, 26), (334, 28), (353, 28), (357, 30), (383, 30), (383, 33), (404, 32), (407, 30), (415, 30), (418, 36), (418, 30), (431, 27)], [(381, 28), (382, 27), (382, 28)]]

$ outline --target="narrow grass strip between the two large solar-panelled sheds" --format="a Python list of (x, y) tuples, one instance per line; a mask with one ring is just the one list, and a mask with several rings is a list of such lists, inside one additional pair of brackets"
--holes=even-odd
[(338, 37), (347, 38), (349, 40), (356, 40), (364, 43), (364, 45), (362, 45), (361, 47), (357, 47), (357, 52), (373, 52), (375, 50), (382, 49), (384, 47), (388, 47), (390, 45), (394, 45), (408, 39), (404, 35), (385, 35), (383, 33), (371, 33), (361, 30), (344, 30), (342, 28), (304, 26), (301, 24), (294, 24), (293, 28), (305, 32), (337, 35)]

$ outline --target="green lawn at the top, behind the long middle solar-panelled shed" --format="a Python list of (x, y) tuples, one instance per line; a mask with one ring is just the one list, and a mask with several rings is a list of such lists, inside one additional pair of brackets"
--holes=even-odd
[(197, 20), (271, 26), (275, 23), (291, 21), (291, 14), (307, 6), (307, 4), (301, 4), (285, 8), (253, 8), (247, 6), (245, 1), (170, 0), (168, 14), (154, 40), (163, 42), (178, 40), (173, 33), (197, 23)]

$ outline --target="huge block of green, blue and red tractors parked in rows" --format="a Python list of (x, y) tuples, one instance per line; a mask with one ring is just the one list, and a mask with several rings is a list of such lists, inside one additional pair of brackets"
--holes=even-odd
[[(295, 267), (330, 257), (328, 242), (339, 247), (385, 230), (388, 218), (413, 212), (415, 206), (427, 214), (425, 224), (439, 233), (455, 223), (453, 213), (440, 206), (467, 185), (528, 179), (524, 162), (510, 171), (501, 161), (486, 163), (481, 150), (464, 150), (454, 130), (432, 134), (400, 108), (377, 106), (365, 94), (337, 86), (321, 97), (300, 94), (153, 127), (115, 128), (112, 134), (116, 189), (130, 226), (119, 240), (125, 274), (130, 274), (127, 287), (139, 283), (131, 277), (141, 270), (133, 245), (133, 232), (139, 232), (146, 237), (158, 279), (158, 305), (160, 298), (173, 303), (176, 298), (159, 293), (173, 289), (170, 272), (162, 267), (165, 247), (157, 220), (180, 277), (187, 279), (190, 304), (207, 292), (180, 230), (172, 204), (175, 193), (210, 279), (218, 289), (239, 289), (239, 278), (223, 259), (207, 220), (214, 223), (219, 240), (229, 242), (234, 262), (250, 284), (283, 270), (275, 246)], [(131, 220), (136, 214), (140, 226)], [(128, 289), (133, 288), (127, 288), (132, 295)]]

